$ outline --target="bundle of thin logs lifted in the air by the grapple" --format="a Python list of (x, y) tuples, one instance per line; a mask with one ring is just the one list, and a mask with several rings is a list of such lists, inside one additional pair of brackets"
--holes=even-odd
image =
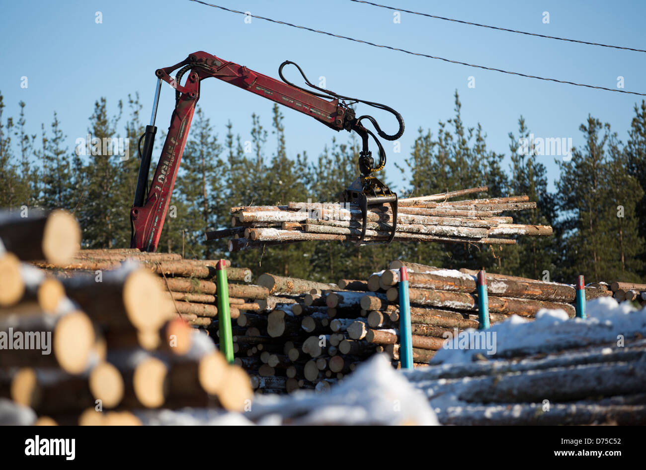
[[(514, 224), (503, 213), (536, 208), (527, 196), (448, 200), (486, 187), (400, 199), (394, 240), (450, 243), (515, 244), (517, 235), (552, 235), (550, 226)], [(231, 208), (232, 227), (207, 232), (207, 240), (230, 238), (229, 251), (307, 240), (359, 240), (363, 222), (355, 204), (289, 202), (286, 206)], [(362, 244), (388, 240), (393, 226), (390, 206), (368, 208)]]

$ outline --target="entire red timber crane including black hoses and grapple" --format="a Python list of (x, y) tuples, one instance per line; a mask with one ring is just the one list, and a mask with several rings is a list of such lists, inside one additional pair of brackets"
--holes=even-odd
[[(287, 81), (282, 70), (286, 65), (294, 65), (306, 81), (307, 85), (318, 92), (308, 91)], [(174, 78), (171, 73), (180, 69)], [(189, 72), (190, 71), (190, 72)], [(182, 85), (183, 75), (189, 76)], [(368, 207), (390, 204), (392, 208), (392, 231), (388, 243), (395, 237), (397, 228), (397, 194), (380, 182), (373, 173), (380, 171), (386, 165), (386, 153), (375, 134), (361, 124), (362, 120), (372, 123), (381, 138), (397, 140), (404, 133), (404, 120), (399, 112), (379, 103), (358, 100), (342, 96), (335, 92), (322, 89), (310, 83), (298, 65), (291, 61), (284, 61), (278, 68), (279, 80), (254, 72), (242, 65), (217, 58), (207, 52), (194, 52), (180, 63), (158, 69), (155, 72), (158, 80), (154, 96), (151, 123), (146, 126), (145, 133), (141, 135), (138, 149), (141, 158), (137, 186), (132, 209), (130, 209), (130, 226), (132, 237), (130, 248), (141, 251), (155, 251), (161, 236), (161, 228), (166, 217), (172, 188), (182, 160), (182, 153), (189, 134), (189, 127), (193, 119), (196, 103), (200, 98), (200, 83), (209, 77), (231, 83), (236, 87), (263, 96), (280, 105), (287, 106), (303, 114), (307, 114), (324, 123), (335, 131), (345, 129), (359, 134), (362, 140), (362, 150), (359, 153), (359, 170), (361, 175), (340, 196), (340, 202), (359, 205), (362, 213), (362, 233), (358, 244), (366, 235), (368, 221)], [(161, 149), (161, 156), (157, 169), (152, 178), (151, 187), (148, 186), (148, 174), (151, 166), (152, 147), (157, 132), (155, 118), (161, 91), (161, 81), (169, 83), (175, 89), (175, 109), (171, 116), (171, 125)], [(329, 101), (328, 101), (329, 100)], [(340, 101), (339, 101), (340, 100)], [(351, 101), (346, 103), (346, 101)], [(391, 112), (397, 118), (399, 131), (393, 135), (384, 133), (372, 116), (355, 116), (355, 111), (350, 107), (354, 103), (364, 103), (377, 109)], [(379, 149), (377, 164), (368, 149), (368, 137), (371, 136)], [(143, 139), (143, 150), (141, 140)]]

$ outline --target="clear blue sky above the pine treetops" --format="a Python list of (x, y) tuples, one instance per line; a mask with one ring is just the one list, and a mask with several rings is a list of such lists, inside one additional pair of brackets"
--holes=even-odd
[[(623, 76), (625, 89), (646, 92), (645, 57), (629, 52), (579, 45), (460, 25), (401, 14), (348, 0), (232, 1), (211, 3), (307, 27), (406, 48), (435, 56), (614, 88)], [(515, 28), (539, 34), (586, 41), (643, 46), (646, 3), (640, 1), (409, 1), (384, 0), (438, 16)], [(543, 12), (550, 23), (543, 23)], [(3, 2), (0, 31), (0, 92), (7, 105), (5, 117), (17, 116), (18, 102), (26, 102), (30, 133), (48, 126), (54, 111), (67, 134), (70, 151), (84, 137), (94, 101), (108, 100), (111, 111), (118, 100), (140, 93), (147, 122), (152, 105), (154, 70), (172, 65), (196, 50), (246, 65), (277, 78), (278, 65), (297, 62), (314, 81), (340, 94), (378, 101), (401, 112), (406, 133), (402, 153), (386, 145), (388, 176), (399, 187), (402, 177), (393, 161), (408, 154), (417, 129), (437, 129), (439, 120), (453, 116), (453, 92), (463, 103), (466, 125), (481, 123), (490, 149), (508, 155), (508, 133), (516, 132), (520, 114), (532, 133), (541, 137), (572, 137), (581, 144), (579, 125), (588, 114), (609, 122), (622, 140), (627, 136), (634, 103), (641, 97), (572, 87), (472, 69), (442, 61), (410, 56), (345, 39), (322, 36), (283, 25), (244, 17), (187, 0), (141, 1), (34, 1)], [(102, 23), (95, 22), (101, 12)], [(296, 79), (291, 73), (288, 76)], [(28, 88), (21, 89), (21, 77)], [(468, 88), (474, 76), (475, 88)], [(157, 125), (168, 126), (174, 93), (162, 89)], [(200, 105), (220, 136), (231, 119), (242, 140), (248, 135), (251, 113), (270, 126), (272, 103), (215, 79), (202, 84)], [(364, 107), (359, 112), (372, 111)], [(371, 112), (386, 132), (393, 133), (390, 114)], [(287, 151), (304, 150), (317, 156), (333, 132), (303, 116), (284, 110)], [(347, 138), (343, 133), (340, 138)], [(388, 143), (386, 143), (388, 144)], [(267, 153), (273, 149), (269, 141)], [(158, 158), (158, 153), (153, 156)], [(554, 158), (543, 156), (550, 187), (557, 178)], [(508, 159), (506, 160), (508, 162)]]

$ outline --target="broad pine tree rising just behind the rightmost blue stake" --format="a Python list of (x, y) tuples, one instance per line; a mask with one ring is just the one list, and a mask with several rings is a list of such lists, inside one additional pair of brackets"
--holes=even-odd
[[(621, 175), (625, 173), (625, 166), (610, 125), (602, 125), (589, 116), (587, 125), (581, 125), (580, 129), (585, 135), (585, 145), (572, 152), (571, 162), (558, 162), (561, 169), (557, 182), (558, 207), (563, 215), (559, 220), (563, 233), (561, 256), (565, 261), (561, 277), (570, 282), (578, 274), (586, 275), (589, 280), (613, 280), (618, 273), (626, 272), (625, 260), (630, 255), (627, 244), (620, 240), (620, 231), (621, 239), (631, 240), (637, 249), (643, 246), (637, 237), (634, 216), (630, 214), (632, 204), (641, 198), (641, 193), (635, 194), (638, 186), (630, 182), (630, 176)], [(627, 191), (615, 187), (619, 185), (626, 186)], [(621, 205), (618, 201), (624, 202), (624, 208), (628, 209), (620, 221), (617, 220), (617, 206)]]

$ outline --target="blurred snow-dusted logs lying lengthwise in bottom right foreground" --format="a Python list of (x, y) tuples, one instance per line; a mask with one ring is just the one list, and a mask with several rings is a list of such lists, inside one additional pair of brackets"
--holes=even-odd
[(646, 423), (644, 339), (487, 359), (406, 376), (445, 425)]

